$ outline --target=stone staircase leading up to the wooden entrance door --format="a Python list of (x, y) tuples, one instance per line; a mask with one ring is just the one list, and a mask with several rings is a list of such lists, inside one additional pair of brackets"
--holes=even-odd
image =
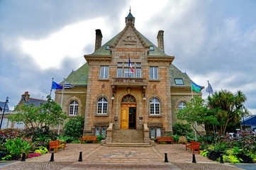
[(143, 130), (113, 130), (112, 141), (104, 144), (108, 147), (151, 147), (144, 143)]

